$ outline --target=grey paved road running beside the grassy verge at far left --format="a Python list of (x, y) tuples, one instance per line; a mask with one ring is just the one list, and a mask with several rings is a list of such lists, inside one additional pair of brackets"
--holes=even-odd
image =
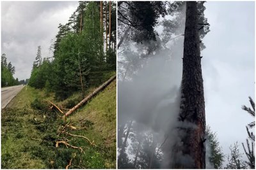
[(15, 85), (12, 87), (4, 87), (1, 89), (1, 97), (2, 97), (2, 109), (7, 106), (10, 101), (12, 101), (13, 97), (15, 97), (20, 90), (25, 87), (24, 85)]

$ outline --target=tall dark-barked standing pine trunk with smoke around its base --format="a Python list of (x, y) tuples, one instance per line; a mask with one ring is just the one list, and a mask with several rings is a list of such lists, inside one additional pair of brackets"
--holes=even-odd
[(184, 36), (179, 113), (179, 134), (183, 145), (173, 148), (175, 160), (172, 167), (202, 169), (205, 168), (205, 103), (195, 1), (186, 3)]

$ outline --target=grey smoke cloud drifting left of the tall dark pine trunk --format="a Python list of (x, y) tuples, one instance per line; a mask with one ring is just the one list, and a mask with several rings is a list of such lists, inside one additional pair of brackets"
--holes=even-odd
[[(184, 36), (175, 38), (179, 35), (172, 34), (170, 39), (175, 39), (163, 45), (161, 39), (166, 39), (168, 27), (162, 31), (165, 35), (157, 41), (147, 43), (146, 47), (145, 44), (130, 45), (118, 55), (122, 60), (122, 64), (118, 64), (121, 73), (118, 75), (118, 124), (134, 120), (132, 126), (138, 133), (150, 132), (154, 142), (165, 142), (161, 148), (164, 150), (161, 167), (170, 168), (172, 161), (191, 167), (194, 160), (189, 155), (177, 152), (176, 159), (171, 159), (173, 145), (183, 145), (180, 136), (184, 132), (177, 127), (196, 128), (186, 121), (178, 122)], [(184, 32), (184, 22), (180, 22), (175, 32)], [(161, 27), (158, 33), (161, 33)], [(141, 57), (145, 56), (145, 48), (156, 50)]]

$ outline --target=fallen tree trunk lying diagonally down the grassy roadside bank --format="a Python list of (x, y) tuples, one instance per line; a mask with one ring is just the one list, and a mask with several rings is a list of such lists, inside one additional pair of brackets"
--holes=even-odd
[(85, 97), (83, 99), (83, 101), (81, 101), (80, 103), (78, 103), (76, 106), (74, 106), (72, 109), (70, 109), (64, 117), (67, 117), (68, 115), (70, 115), (71, 113), (73, 113), (75, 110), (77, 110), (77, 108), (83, 106), (83, 104), (85, 104), (88, 100), (90, 100), (93, 96), (95, 96), (95, 94), (97, 94), (98, 92), (100, 92), (101, 90), (103, 90), (105, 87), (107, 87), (113, 80), (115, 80), (116, 75), (112, 76), (111, 78), (109, 78), (108, 81), (106, 81), (105, 83), (103, 83), (102, 85), (100, 85), (100, 87), (98, 87), (96, 90), (94, 90), (91, 94), (89, 94), (87, 97)]

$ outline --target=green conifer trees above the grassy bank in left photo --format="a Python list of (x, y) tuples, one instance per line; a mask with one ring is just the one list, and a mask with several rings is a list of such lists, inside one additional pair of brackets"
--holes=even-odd
[(55, 92), (56, 99), (65, 99), (77, 90), (84, 96), (88, 87), (96, 87), (108, 79), (116, 70), (113, 13), (115, 2), (79, 2), (68, 23), (59, 25), (52, 45), (52, 60), (42, 62), (41, 58), (40, 62), (38, 47), (29, 85), (47, 87)]

